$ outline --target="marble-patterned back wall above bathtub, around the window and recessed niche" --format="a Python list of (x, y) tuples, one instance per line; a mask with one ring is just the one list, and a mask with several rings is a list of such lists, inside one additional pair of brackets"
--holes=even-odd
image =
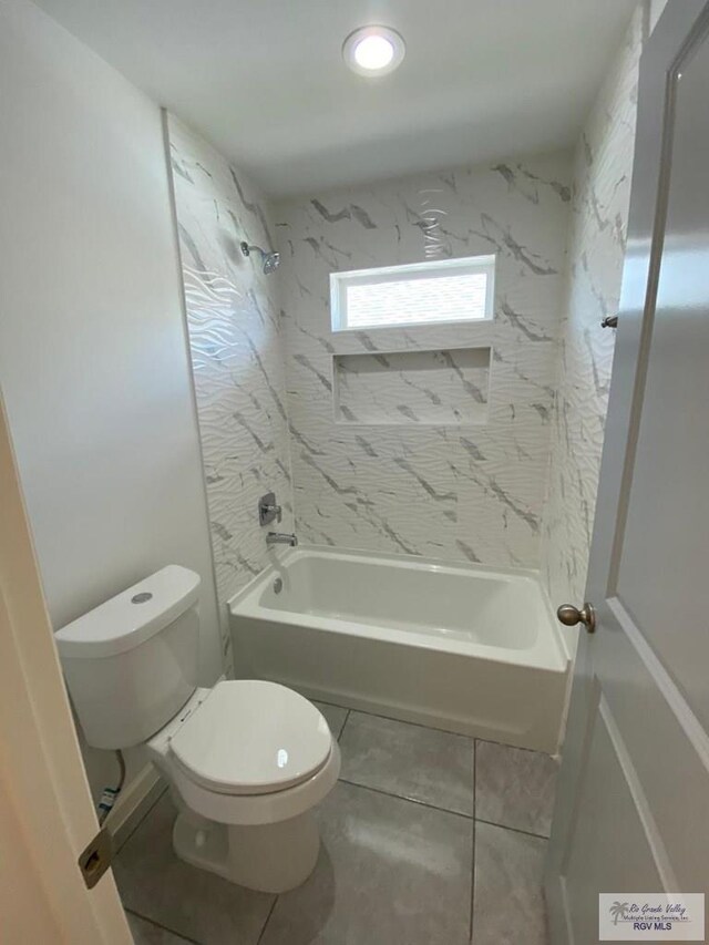
[[(538, 565), (569, 179), (569, 155), (559, 153), (275, 208), (296, 526), (304, 540)], [(490, 253), (496, 255), (492, 322), (331, 331), (331, 271)], [(485, 423), (357, 423), (351, 403), (340, 405), (352, 411), (340, 418), (350, 422), (336, 422), (335, 356), (466, 347), (492, 351)], [(394, 408), (411, 410), (414, 402), (413, 393), (408, 401), (397, 396)]]

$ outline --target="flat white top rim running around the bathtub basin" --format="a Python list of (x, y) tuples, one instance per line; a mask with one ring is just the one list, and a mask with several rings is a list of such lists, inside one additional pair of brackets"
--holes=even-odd
[[(300, 557), (312, 555), (345, 559), (357, 557), (368, 559), (370, 562), (381, 561), (390, 564), (398, 564), (399, 566), (409, 565), (417, 569), (424, 569), (428, 572), (462, 572), (463, 574), (470, 574), (472, 576), (476, 575), (479, 577), (485, 575), (490, 578), (499, 576), (526, 579), (535, 585), (535, 589), (541, 595), (548, 633), (540, 634), (537, 640), (532, 647), (526, 649), (513, 649), (492, 646), (490, 644), (462, 641), (443, 636), (427, 636), (425, 634), (403, 630), (390, 626), (360, 624), (356, 620), (347, 620), (339, 617), (322, 617), (314, 614), (301, 614), (297, 610), (271, 610), (266, 607), (261, 607), (257, 603), (257, 596), (273, 579), (273, 577), (278, 574), (280, 567), (287, 567), (291, 561), (297, 561)], [(264, 624), (289, 624), (297, 627), (308, 627), (321, 633), (341, 634), (345, 636), (354, 636), (374, 641), (386, 639), (388, 643), (397, 644), (399, 646), (413, 647), (422, 650), (444, 651), (465, 658), (484, 659), (503, 666), (512, 665), (530, 667), (546, 670), (548, 672), (558, 672), (561, 675), (569, 671), (572, 657), (567, 643), (556, 623), (548, 595), (540, 579), (540, 573), (533, 568), (497, 567), (493, 565), (476, 564), (474, 562), (451, 562), (440, 558), (421, 557), (419, 555), (369, 552), (361, 548), (332, 548), (329, 545), (309, 544), (271, 552), (271, 558), (270, 564), (267, 565), (260, 574), (255, 575), (248, 584), (233, 595), (233, 597), (227, 602), (229, 623), (237, 620), (239, 617), (244, 617), (246, 619)], [(234, 627), (232, 627), (232, 629), (234, 629)], [(386, 630), (386, 637), (382, 637), (381, 633), (378, 635), (378, 629)]]

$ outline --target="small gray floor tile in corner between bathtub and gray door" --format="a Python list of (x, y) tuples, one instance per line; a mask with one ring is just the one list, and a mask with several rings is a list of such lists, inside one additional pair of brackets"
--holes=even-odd
[(548, 836), (557, 771), (541, 751), (477, 741), (475, 816)]

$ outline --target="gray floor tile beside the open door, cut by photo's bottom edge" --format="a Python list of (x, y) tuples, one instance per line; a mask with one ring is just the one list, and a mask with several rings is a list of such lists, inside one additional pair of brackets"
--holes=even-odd
[(546, 844), (538, 836), (475, 824), (473, 945), (547, 945)]

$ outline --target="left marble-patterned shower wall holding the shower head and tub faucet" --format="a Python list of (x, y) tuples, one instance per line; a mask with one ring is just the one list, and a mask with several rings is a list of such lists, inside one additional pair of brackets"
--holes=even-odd
[(275, 491), (294, 526), (278, 283), (239, 248), (274, 248), (274, 227), (250, 183), (172, 115), (168, 136), (228, 670), (226, 602), (269, 561), (258, 499)]

